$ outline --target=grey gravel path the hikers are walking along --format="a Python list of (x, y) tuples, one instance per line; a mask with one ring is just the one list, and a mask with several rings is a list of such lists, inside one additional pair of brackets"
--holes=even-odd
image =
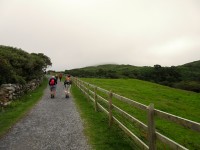
[(2, 139), (0, 150), (87, 150), (83, 124), (72, 98), (65, 98), (58, 82), (57, 95), (49, 88), (42, 100)]

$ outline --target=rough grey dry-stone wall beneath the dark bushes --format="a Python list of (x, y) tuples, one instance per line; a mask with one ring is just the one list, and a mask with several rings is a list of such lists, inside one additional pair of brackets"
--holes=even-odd
[(2, 84), (0, 86), (0, 106), (6, 106), (11, 101), (21, 97), (29, 91), (36, 89), (43, 81), (41, 79), (34, 79), (25, 85), (19, 84)]

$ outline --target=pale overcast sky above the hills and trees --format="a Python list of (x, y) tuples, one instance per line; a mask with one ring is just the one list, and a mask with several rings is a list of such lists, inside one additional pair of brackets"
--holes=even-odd
[(61, 71), (200, 60), (200, 0), (0, 0), (0, 45)]

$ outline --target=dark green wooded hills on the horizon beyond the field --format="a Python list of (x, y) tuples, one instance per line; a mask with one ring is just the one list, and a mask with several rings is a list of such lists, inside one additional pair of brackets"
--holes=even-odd
[(171, 67), (104, 64), (65, 70), (65, 73), (86, 78), (135, 78), (200, 92), (200, 60)]

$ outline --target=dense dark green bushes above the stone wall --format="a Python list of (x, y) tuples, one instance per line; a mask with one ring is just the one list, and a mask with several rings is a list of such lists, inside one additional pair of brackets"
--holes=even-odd
[(50, 65), (50, 58), (42, 53), (29, 54), (22, 49), (0, 46), (0, 84), (25, 84), (42, 77)]

